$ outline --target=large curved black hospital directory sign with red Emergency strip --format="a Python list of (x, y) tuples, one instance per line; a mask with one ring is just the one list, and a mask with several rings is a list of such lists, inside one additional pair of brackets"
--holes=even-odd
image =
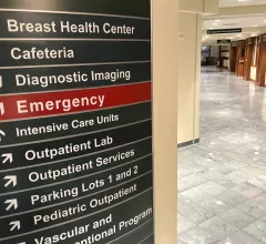
[(0, 244), (153, 244), (150, 1), (0, 0)]

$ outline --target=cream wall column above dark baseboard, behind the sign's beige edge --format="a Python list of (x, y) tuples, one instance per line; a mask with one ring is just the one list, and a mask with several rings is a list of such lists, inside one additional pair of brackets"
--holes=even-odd
[(202, 14), (180, 13), (178, 143), (198, 139)]

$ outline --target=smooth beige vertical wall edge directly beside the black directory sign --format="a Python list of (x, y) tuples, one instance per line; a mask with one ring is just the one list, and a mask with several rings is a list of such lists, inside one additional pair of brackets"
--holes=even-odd
[(155, 244), (176, 244), (178, 0), (152, 10)]

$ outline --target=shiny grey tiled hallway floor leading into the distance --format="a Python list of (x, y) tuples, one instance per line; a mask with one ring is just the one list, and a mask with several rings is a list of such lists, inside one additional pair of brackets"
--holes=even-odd
[(178, 244), (266, 243), (266, 88), (202, 73), (201, 142), (178, 150)]

